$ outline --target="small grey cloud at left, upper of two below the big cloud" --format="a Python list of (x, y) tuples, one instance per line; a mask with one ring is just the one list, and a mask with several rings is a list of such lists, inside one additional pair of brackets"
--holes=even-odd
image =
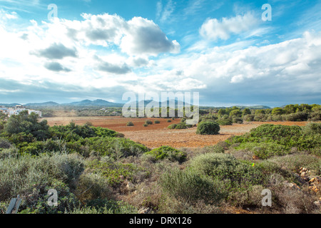
[(62, 43), (54, 43), (48, 48), (34, 52), (34, 54), (49, 59), (62, 59), (68, 56), (76, 57), (77, 51), (74, 48), (66, 48)]

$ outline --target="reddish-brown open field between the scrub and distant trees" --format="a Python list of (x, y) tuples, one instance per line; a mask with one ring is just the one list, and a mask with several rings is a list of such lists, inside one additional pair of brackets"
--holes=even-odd
[[(95, 127), (110, 128), (119, 133), (123, 133), (126, 138), (135, 142), (141, 142), (150, 148), (170, 145), (171, 147), (204, 147), (215, 145), (216, 143), (226, 140), (233, 135), (242, 135), (249, 132), (252, 128), (266, 123), (280, 125), (300, 125), (304, 126), (307, 122), (252, 122), (246, 124), (233, 124), (220, 126), (220, 135), (196, 135), (196, 128), (183, 130), (167, 129), (168, 125), (179, 123), (180, 119), (172, 120), (167, 123), (167, 119), (157, 118), (121, 118), (121, 117), (56, 117), (44, 118), (48, 120), (49, 125), (66, 125), (73, 120), (78, 125), (83, 125), (87, 121)], [(161, 123), (143, 127), (146, 120), (160, 120)], [(126, 123), (133, 122), (133, 127), (127, 127)]]

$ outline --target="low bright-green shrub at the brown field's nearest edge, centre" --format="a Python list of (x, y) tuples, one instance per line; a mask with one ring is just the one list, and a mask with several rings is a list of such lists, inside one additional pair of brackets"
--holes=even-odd
[(163, 160), (165, 158), (167, 158), (170, 161), (178, 162), (184, 162), (186, 160), (186, 155), (184, 152), (165, 145), (153, 149), (149, 152), (146, 152), (146, 155), (153, 155), (156, 161)]

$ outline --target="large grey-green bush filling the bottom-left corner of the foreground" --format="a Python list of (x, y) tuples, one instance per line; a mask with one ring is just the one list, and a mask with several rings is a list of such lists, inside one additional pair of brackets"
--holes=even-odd
[[(71, 192), (83, 172), (83, 160), (75, 155), (7, 157), (0, 160), (0, 201), (24, 197), (23, 213), (63, 213), (78, 205)], [(58, 191), (58, 207), (49, 207), (47, 192)]]

